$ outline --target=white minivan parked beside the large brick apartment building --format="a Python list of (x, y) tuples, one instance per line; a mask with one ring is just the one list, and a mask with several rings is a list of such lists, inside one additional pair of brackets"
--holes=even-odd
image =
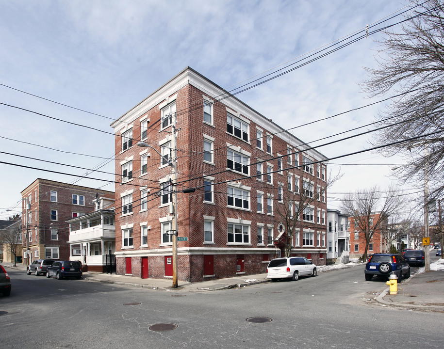
[(267, 278), (271, 281), (292, 278), (294, 281), (299, 276), (317, 275), (316, 266), (305, 257), (284, 257), (272, 259), (267, 266)]

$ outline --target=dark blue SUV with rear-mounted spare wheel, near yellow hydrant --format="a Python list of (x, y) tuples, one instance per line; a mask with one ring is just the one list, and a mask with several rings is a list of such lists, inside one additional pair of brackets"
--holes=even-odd
[(400, 254), (374, 254), (365, 265), (365, 280), (372, 280), (373, 275), (384, 276), (388, 279), (394, 273), (401, 282), (402, 276), (410, 277), (410, 265)]

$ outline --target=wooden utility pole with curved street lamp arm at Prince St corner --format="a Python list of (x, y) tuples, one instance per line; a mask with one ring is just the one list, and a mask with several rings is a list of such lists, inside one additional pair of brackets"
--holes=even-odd
[[(175, 119), (175, 118), (174, 118)], [(173, 237), (173, 288), (177, 288), (177, 269), (178, 269), (178, 263), (177, 263), (177, 169), (176, 169), (176, 132), (175, 132), (175, 126), (173, 124), (173, 137), (171, 140), (171, 159), (167, 159), (164, 155), (162, 155), (156, 148), (154, 148), (152, 145), (145, 143), (145, 142), (139, 142), (137, 143), (140, 147), (146, 147), (151, 148), (154, 150), (157, 154), (159, 154), (163, 159), (165, 159), (169, 166), (171, 166), (171, 190), (173, 193), (173, 198), (171, 202), (171, 210), (172, 210), (172, 223), (171, 228), (174, 231), (172, 234)]]

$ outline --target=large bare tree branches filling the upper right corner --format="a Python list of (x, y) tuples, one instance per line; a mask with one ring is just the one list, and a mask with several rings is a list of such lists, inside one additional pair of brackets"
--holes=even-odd
[(399, 32), (384, 32), (377, 68), (365, 68), (369, 78), (362, 87), (373, 96), (398, 95), (378, 115), (380, 124), (390, 127), (379, 130), (372, 143), (407, 140), (381, 151), (404, 156), (405, 165), (396, 173), (403, 181), (424, 184), (427, 169), (437, 197), (444, 192), (444, 3), (411, 0), (411, 6)]

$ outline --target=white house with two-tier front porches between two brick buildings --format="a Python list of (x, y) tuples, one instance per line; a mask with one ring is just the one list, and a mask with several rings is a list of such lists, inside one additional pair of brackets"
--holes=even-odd
[(93, 212), (67, 221), (69, 260), (80, 260), (83, 271), (106, 272), (107, 255), (115, 253), (114, 193), (94, 203)]

